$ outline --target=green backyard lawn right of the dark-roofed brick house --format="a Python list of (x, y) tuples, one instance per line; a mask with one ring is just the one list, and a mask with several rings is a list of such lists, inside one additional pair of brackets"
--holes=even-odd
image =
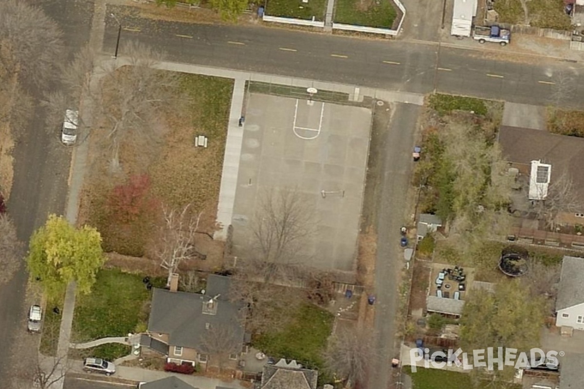
[(260, 335), (253, 346), (274, 358), (296, 359), (305, 366), (322, 367), (322, 351), (332, 331), (333, 315), (311, 304), (288, 314), (296, 317), (293, 323), (280, 331)]

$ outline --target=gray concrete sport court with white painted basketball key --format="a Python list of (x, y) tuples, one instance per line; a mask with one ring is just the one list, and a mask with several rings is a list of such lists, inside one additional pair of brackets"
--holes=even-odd
[(317, 222), (300, 261), (352, 271), (370, 127), (368, 108), (249, 94), (232, 216), (234, 255), (249, 247), (262, 196), (291, 188)]

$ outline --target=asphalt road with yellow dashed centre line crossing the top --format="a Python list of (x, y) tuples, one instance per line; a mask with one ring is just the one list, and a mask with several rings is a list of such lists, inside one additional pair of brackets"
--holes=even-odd
[[(122, 6), (108, 12), (128, 14)], [(584, 102), (580, 64), (501, 55), (419, 41), (364, 40), (251, 26), (187, 24), (124, 16), (127, 40), (161, 48), (171, 61), (428, 93), (432, 90), (544, 105), (569, 79), (562, 100)], [(104, 50), (113, 52), (117, 24), (106, 21)], [(474, 48), (474, 47), (473, 47)], [(522, 62), (520, 62), (522, 61)]]

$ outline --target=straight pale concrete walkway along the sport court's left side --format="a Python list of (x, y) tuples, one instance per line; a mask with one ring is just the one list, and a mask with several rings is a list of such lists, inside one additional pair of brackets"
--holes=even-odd
[[(231, 225), (237, 177), (239, 175), (239, 157), (241, 145), (244, 141), (244, 128), (239, 127), (239, 118), (243, 115), (245, 97), (245, 78), (235, 78), (233, 94), (231, 96), (231, 110), (227, 141), (225, 142), (225, 156), (223, 157), (223, 171), (221, 172), (221, 187), (219, 190), (219, 204), (217, 205), (217, 223), (220, 230), (215, 231), (213, 237), (218, 240), (227, 239), (227, 227)], [(245, 126), (245, 122), (244, 122)], [(211, 139), (211, 142), (213, 140)]]

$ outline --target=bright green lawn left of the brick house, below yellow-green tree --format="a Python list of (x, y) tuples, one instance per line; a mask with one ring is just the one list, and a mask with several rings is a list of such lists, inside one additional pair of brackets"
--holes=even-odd
[[(118, 269), (103, 269), (89, 295), (77, 297), (73, 319), (73, 342), (87, 342), (105, 337), (125, 337), (137, 327), (145, 330), (152, 293), (142, 283), (144, 275), (128, 274)], [(151, 279), (156, 287), (165, 279)], [(107, 344), (93, 349), (93, 356), (113, 360), (128, 354), (128, 348)]]

